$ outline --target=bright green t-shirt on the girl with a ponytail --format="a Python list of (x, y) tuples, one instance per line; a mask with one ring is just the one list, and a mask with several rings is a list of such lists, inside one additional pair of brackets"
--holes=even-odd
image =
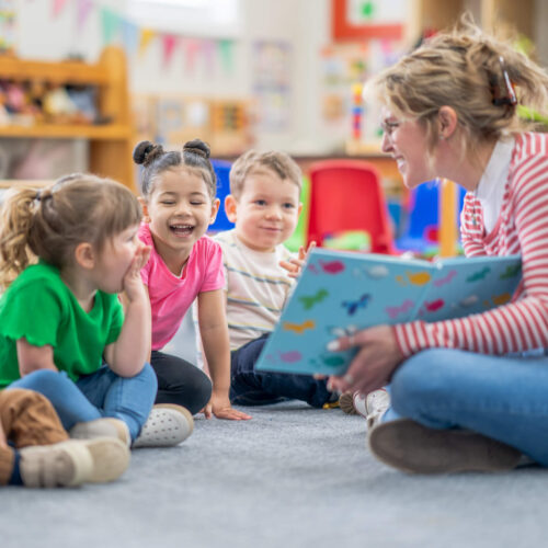
[(54, 349), (54, 363), (72, 380), (96, 372), (104, 347), (116, 341), (124, 322), (116, 295), (98, 290), (85, 312), (58, 269), (28, 266), (0, 298), (0, 389), (21, 378), (16, 341)]

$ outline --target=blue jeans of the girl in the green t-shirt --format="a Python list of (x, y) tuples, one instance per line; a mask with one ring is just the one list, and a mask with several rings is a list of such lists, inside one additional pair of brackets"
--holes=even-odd
[(157, 380), (149, 364), (134, 377), (119, 377), (109, 367), (73, 383), (65, 372), (39, 369), (12, 383), (10, 388), (27, 388), (44, 395), (54, 406), (65, 430), (77, 422), (113, 416), (127, 424), (135, 439), (156, 398)]

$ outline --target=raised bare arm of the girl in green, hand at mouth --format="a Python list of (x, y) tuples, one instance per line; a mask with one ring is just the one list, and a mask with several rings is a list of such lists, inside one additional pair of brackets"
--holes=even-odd
[(150, 356), (150, 301), (140, 278), (140, 270), (149, 255), (150, 248), (141, 244), (124, 277), (126, 306), (122, 331), (116, 342), (104, 350), (106, 363), (121, 377), (137, 375)]

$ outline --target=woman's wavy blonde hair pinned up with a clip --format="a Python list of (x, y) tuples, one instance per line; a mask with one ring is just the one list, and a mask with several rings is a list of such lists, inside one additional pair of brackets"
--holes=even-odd
[(510, 42), (484, 34), (465, 14), (455, 28), (434, 35), (369, 81), (366, 96), (373, 93), (398, 117), (420, 121), (431, 152), (439, 138), (437, 113), (442, 106), (453, 107), (463, 130), (463, 152), (470, 153), (479, 142), (530, 129), (516, 105), (495, 104), (506, 90), (505, 72), (518, 104), (545, 113), (545, 70)]

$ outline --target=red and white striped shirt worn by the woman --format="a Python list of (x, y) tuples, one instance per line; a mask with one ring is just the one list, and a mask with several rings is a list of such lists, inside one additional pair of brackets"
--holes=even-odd
[[(502, 184), (502, 182), (501, 182)], [(467, 256), (522, 255), (523, 281), (511, 304), (467, 318), (395, 326), (406, 356), (430, 347), (505, 354), (548, 346), (548, 134), (515, 136), (496, 224), (484, 233), (481, 204), (465, 196), (460, 217)]]

